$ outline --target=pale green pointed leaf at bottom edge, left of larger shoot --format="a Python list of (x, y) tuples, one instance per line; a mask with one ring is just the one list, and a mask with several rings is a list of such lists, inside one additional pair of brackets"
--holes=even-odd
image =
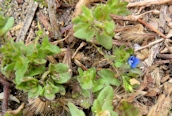
[(85, 116), (82, 110), (79, 110), (73, 103), (69, 102), (68, 107), (72, 116)]

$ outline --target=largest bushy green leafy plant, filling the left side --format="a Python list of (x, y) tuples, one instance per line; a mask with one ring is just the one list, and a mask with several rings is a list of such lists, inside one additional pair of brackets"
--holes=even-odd
[(1, 72), (12, 80), (16, 88), (28, 92), (28, 97), (39, 95), (53, 100), (56, 93), (65, 94), (63, 83), (70, 79), (68, 66), (63, 63), (47, 66), (46, 57), (61, 52), (58, 46), (52, 45), (48, 37), (38, 39), (29, 45), (23, 42), (7, 41), (1, 48), (3, 56)]

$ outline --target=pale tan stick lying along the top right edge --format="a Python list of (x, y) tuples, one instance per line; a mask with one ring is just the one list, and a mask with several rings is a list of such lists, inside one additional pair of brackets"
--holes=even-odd
[(134, 2), (134, 3), (129, 3), (127, 7), (136, 7), (136, 6), (150, 6), (150, 5), (161, 5), (161, 4), (166, 4), (170, 3), (172, 0), (144, 0), (144, 1), (139, 1), (139, 2)]

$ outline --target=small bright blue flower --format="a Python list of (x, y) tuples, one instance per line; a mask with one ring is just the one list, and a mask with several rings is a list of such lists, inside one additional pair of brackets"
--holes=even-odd
[(131, 68), (136, 68), (139, 62), (140, 60), (135, 56), (130, 56), (130, 58), (128, 59), (128, 64), (131, 66)]

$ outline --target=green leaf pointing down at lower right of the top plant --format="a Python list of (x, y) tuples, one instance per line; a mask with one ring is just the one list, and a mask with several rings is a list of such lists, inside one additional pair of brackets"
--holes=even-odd
[(106, 49), (110, 50), (112, 48), (112, 37), (107, 33), (98, 33), (96, 35), (96, 40)]

